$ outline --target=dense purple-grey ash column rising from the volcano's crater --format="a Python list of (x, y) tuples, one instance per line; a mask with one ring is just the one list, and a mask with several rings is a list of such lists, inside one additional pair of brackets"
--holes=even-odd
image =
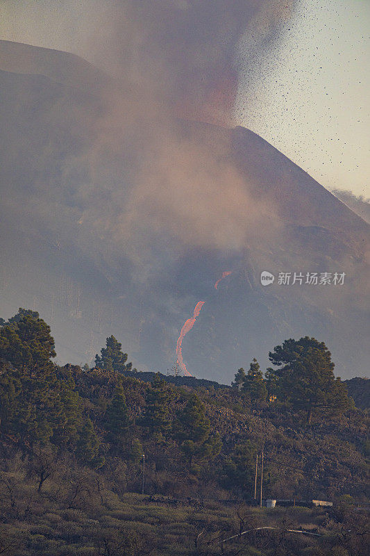
[(239, 40), (251, 31), (253, 50), (264, 51), (293, 3), (115, 0), (104, 8), (110, 22), (109, 49), (99, 36), (94, 36), (92, 49), (96, 58), (103, 57), (104, 66), (115, 61), (112, 71), (133, 84), (135, 97), (137, 87), (144, 88), (148, 96), (143, 98), (156, 99), (167, 114), (230, 125), (237, 95)]

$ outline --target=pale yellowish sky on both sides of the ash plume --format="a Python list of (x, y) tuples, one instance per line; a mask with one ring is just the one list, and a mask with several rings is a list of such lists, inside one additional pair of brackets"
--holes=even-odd
[[(99, 1), (89, 2), (103, 11)], [(0, 0), (0, 38), (88, 58), (82, 6), (86, 3), (75, 0)], [(298, 0), (262, 59), (251, 61), (250, 38), (241, 42), (235, 108), (237, 123), (324, 186), (365, 197), (370, 197), (369, 28), (369, 0)], [(106, 33), (104, 26), (99, 33)]]

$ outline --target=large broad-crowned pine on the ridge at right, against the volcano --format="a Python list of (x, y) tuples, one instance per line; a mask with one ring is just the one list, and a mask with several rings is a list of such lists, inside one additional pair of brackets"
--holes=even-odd
[(274, 370), (280, 398), (307, 412), (307, 422), (319, 409), (341, 413), (350, 407), (346, 388), (335, 379), (334, 363), (325, 343), (315, 338), (292, 338), (277, 345), (269, 359)]

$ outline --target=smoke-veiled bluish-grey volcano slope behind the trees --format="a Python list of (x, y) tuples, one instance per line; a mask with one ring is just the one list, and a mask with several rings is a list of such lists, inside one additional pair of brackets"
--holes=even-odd
[(230, 381), (305, 335), (342, 377), (367, 373), (369, 226), (348, 206), (251, 131), (170, 119), (76, 56), (0, 42), (0, 70), (1, 316), (40, 311), (60, 361), (114, 334), (165, 373), (204, 301), (183, 341), (192, 374)]

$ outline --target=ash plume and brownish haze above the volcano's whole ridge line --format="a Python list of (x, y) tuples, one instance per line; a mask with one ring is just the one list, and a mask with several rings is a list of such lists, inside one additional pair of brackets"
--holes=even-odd
[(294, 0), (7, 4), (2, 15), (12, 29), (11, 40), (83, 56), (129, 84), (126, 94), (134, 92), (144, 111), (147, 101), (159, 101), (174, 115), (230, 124), (239, 41), (247, 33), (253, 43), (249, 51), (263, 51), (289, 17)]

